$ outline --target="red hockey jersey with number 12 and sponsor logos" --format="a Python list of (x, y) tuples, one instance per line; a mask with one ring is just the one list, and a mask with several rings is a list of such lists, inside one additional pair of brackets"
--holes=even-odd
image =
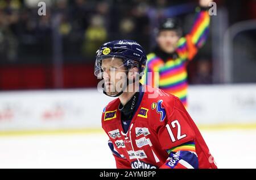
[[(179, 98), (160, 89), (144, 87), (146, 91), (127, 133), (123, 132), (121, 124), (119, 98), (110, 102), (102, 113), (102, 128), (109, 136), (117, 168), (171, 167), (175, 162), (168, 150), (187, 142), (195, 144), (193, 153), (198, 158), (198, 168), (217, 168), (199, 129)], [(191, 167), (181, 160), (176, 166)]]

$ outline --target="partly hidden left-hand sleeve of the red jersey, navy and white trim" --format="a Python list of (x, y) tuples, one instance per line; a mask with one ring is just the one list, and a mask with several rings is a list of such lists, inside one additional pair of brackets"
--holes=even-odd
[(117, 152), (117, 149), (115, 149), (111, 140), (108, 141), (108, 145), (115, 158), (115, 165), (117, 166), (117, 169), (131, 169), (130, 162), (127, 161), (122, 154)]

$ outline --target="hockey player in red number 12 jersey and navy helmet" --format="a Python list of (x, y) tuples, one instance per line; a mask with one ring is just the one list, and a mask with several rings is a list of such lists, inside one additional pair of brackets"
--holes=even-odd
[(105, 43), (96, 54), (104, 94), (118, 97), (102, 112), (117, 168), (217, 168), (180, 99), (139, 83), (146, 61), (132, 40)]

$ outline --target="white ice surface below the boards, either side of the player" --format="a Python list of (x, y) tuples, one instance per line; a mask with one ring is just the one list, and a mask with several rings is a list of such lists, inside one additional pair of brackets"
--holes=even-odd
[[(218, 168), (256, 168), (256, 129), (201, 131)], [(0, 168), (115, 168), (104, 133), (0, 136)]]

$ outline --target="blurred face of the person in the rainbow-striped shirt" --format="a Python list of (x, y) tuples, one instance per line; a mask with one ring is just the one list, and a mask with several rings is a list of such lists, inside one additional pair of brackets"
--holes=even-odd
[(176, 31), (163, 30), (159, 32), (156, 41), (162, 51), (166, 53), (173, 53), (177, 48), (179, 38), (180, 37), (177, 35)]

